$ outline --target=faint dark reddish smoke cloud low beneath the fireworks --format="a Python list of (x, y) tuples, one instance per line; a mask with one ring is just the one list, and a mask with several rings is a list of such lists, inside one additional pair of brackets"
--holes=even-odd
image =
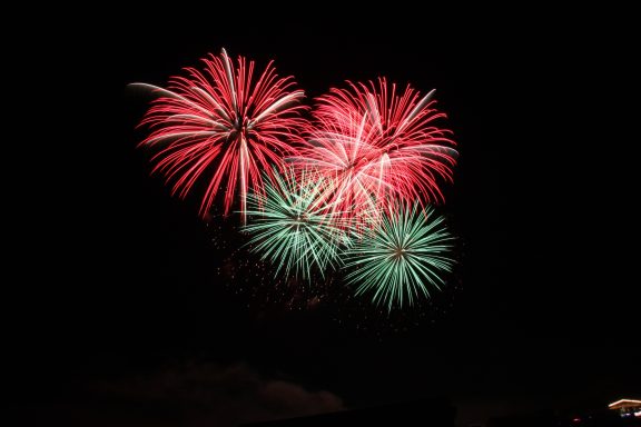
[[(190, 363), (166, 367), (145, 376), (105, 381), (97, 387), (100, 400), (130, 419), (159, 426), (237, 426), (245, 423), (342, 410), (343, 403), (325, 390), (269, 379), (245, 364), (221, 366)], [(105, 409), (105, 404), (101, 406)]]

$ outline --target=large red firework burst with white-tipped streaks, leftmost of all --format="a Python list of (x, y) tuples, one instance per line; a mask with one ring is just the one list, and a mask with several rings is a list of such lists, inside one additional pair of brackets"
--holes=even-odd
[(134, 83), (158, 96), (140, 122), (151, 130), (140, 146), (158, 149), (152, 172), (174, 182), (172, 193), (184, 198), (205, 180), (203, 217), (225, 186), (225, 215), (239, 192), (245, 220), (249, 188), (264, 193), (263, 171), (297, 153), (306, 126), (304, 92), (292, 90), (292, 77), (278, 78), (273, 62), (257, 79), (254, 61), (238, 57), (234, 67), (225, 49), (203, 62), (203, 70), (186, 68), (187, 76), (172, 77), (167, 89)]

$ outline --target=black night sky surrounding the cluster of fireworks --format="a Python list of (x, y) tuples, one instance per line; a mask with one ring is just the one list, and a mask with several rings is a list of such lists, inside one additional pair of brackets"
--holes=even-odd
[[(6, 285), (23, 419), (227, 425), (445, 396), (467, 423), (641, 398), (637, 137), (617, 133), (629, 27), (605, 38), (596, 11), (472, 27), (406, 9), (101, 13), (27, 53), (29, 85), (52, 69), (31, 102), (56, 119), (20, 138), (46, 146)], [(164, 86), (221, 48), (274, 59), (309, 101), (378, 76), (436, 89), (461, 153), (445, 189), (461, 264), (431, 305), (387, 316), (259, 288), (245, 277), (268, 270), (230, 257), (238, 218), (208, 225), (149, 175), (150, 98), (127, 85)]]

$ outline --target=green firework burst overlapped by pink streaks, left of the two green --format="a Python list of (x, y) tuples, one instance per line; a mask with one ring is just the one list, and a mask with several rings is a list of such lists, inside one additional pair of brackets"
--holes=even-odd
[(274, 172), (266, 177), (265, 193), (248, 197), (252, 218), (244, 231), (252, 251), (262, 254), (276, 275), (310, 281), (313, 271), (323, 277), (327, 268), (342, 265), (339, 254), (349, 244), (342, 212), (324, 202), (328, 182), (310, 172)]

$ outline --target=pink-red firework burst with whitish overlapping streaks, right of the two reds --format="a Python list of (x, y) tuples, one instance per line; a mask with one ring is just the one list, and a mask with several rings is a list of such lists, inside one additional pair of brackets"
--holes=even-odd
[(435, 125), (446, 116), (433, 93), (421, 97), (407, 86), (401, 95), (384, 78), (332, 89), (317, 99), (315, 126), (294, 160), (333, 180), (327, 197), (338, 211), (379, 212), (394, 200), (441, 202), (440, 185), (452, 181), (457, 151), (452, 132)]

